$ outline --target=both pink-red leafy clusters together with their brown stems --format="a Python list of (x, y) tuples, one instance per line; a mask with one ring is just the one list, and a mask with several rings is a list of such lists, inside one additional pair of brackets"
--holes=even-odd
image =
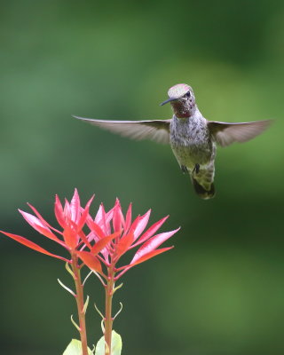
[[(33, 210), (34, 215), (20, 210), (21, 215), (37, 232), (43, 234), (51, 241), (55, 241), (63, 248), (66, 248), (70, 254), (70, 259), (65, 256), (53, 254), (20, 235), (0, 232), (28, 248), (32, 248), (48, 256), (59, 258), (67, 263), (67, 271), (75, 281), (75, 291), (67, 288), (60, 280), (59, 283), (63, 288), (67, 289), (72, 296), (75, 296), (79, 324), (77, 324), (72, 317), (71, 320), (80, 333), (83, 355), (90, 353), (88, 350), (85, 321), (89, 296), (87, 296), (84, 301), (83, 286), (85, 280), (87, 280), (91, 273), (89, 273), (82, 282), (81, 268), (83, 265), (86, 265), (92, 272), (97, 274), (106, 293), (105, 315), (99, 312), (102, 316), (104, 332), (102, 343), (105, 344), (105, 355), (110, 355), (110, 353), (113, 352), (111, 349), (113, 349), (112, 342), (113, 335), (115, 334), (113, 333), (113, 322), (118, 314), (117, 313), (114, 317), (112, 315), (112, 299), (114, 292), (122, 286), (120, 285), (115, 288), (115, 281), (131, 267), (173, 248), (159, 247), (164, 241), (167, 241), (173, 234), (177, 233), (178, 229), (156, 234), (168, 217), (162, 218), (146, 229), (151, 210), (149, 209), (145, 215), (138, 216), (132, 221), (131, 204), (124, 217), (119, 200), (116, 200), (114, 208), (107, 212), (101, 204), (96, 216), (93, 218), (90, 214), (90, 206), (93, 197), (94, 196), (91, 197), (83, 208), (77, 190), (75, 190), (70, 202), (65, 201), (64, 207), (59, 197), (56, 196), (54, 212), (60, 230), (52, 227), (33, 206), (28, 204)], [(88, 230), (87, 233), (85, 232), (86, 230)], [(117, 266), (121, 257), (128, 250), (135, 247), (138, 247), (138, 250), (132, 257), (130, 263)], [(98, 346), (99, 345), (97, 345), (97, 347)]]

